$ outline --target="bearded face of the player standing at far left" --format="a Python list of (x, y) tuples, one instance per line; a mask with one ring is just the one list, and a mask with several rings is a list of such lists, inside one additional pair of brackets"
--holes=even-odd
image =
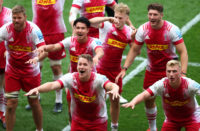
[(26, 15), (23, 13), (12, 14), (12, 21), (15, 30), (22, 31), (26, 26)]

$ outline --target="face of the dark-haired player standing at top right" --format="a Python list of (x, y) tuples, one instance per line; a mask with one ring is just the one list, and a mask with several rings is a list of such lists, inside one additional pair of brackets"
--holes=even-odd
[(160, 13), (157, 10), (150, 9), (148, 12), (148, 18), (152, 28), (158, 28), (160, 26), (162, 17), (163, 13)]

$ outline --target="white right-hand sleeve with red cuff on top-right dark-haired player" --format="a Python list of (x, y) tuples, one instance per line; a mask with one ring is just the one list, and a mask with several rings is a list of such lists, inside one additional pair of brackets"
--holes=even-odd
[(173, 25), (169, 33), (174, 45), (184, 42), (182, 34), (181, 34), (181, 30), (177, 26)]

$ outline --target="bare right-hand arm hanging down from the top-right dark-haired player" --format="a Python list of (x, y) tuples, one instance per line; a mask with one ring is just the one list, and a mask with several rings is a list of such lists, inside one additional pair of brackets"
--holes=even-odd
[(182, 75), (185, 76), (187, 73), (188, 54), (184, 42), (176, 45), (176, 50), (180, 55)]

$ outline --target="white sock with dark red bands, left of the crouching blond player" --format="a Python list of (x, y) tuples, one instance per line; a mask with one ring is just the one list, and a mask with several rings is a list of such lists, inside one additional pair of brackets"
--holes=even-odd
[(157, 116), (157, 107), (147, 109), (146, 115), (149, 121), (149, 128), (151, 131), (156, 131), (156, 116)]

